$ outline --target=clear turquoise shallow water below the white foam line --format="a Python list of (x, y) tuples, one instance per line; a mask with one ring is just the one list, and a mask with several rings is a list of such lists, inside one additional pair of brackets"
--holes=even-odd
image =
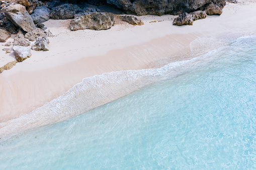
[(216, 61), (0, 140), (0, 169), (255, 169), (256, 37)]

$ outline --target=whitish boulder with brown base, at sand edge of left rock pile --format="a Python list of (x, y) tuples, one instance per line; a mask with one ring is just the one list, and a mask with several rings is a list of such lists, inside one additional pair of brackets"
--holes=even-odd
[(18, 62), (22, 62), (31, 56), (29, 47), (14, 46), (13, 47), (15, 58)]

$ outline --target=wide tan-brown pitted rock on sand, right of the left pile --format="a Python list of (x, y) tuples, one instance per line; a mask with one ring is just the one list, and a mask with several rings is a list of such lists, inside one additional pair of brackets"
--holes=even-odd
[(75, 30), (107, 30), (115, 24), (114, 15), (111, 13), (92, 13), (70, 21), (70, 29)]

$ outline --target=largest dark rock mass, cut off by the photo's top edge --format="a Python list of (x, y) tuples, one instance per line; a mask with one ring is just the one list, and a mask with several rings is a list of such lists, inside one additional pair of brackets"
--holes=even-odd
[(107, 0), (108, 4), (116, 6), (118, 9), (126, 11), (128, 14), (136, 15), (163, 15), (182, 14), (196, 11), (211, 0)]

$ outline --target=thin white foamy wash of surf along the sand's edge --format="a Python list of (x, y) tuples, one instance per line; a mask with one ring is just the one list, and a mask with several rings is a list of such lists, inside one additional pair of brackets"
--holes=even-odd
[[(200, 40), (196, 41), (196, 43), (200, 42)], [(205, 39), (203, 42), (205, 43)], [(196, 43), (192, 43), (193, 49), (196, 49)], [(223, 48), (226, 47), (219, 47), (205, 55), (169, 63), (156, 69), (119, 71), (84, 78), (82, 82), (73, 86), (64, 95), (29, 114), (10, 120), (0, 129), (0, 135), (57, 123), (83, 114), (149, 84), (206, 66), (220, 56), (215, 54), (221, 52)], [(196, 53), (196, 50), (191, 51)]]

